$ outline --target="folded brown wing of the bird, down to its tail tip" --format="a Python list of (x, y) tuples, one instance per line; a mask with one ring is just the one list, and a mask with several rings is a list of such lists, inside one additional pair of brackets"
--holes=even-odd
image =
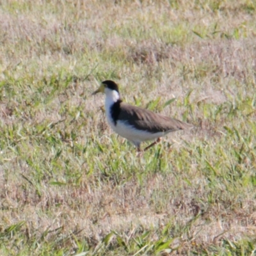
[(118, 120), (123, 120), (142, 131), (172, 132), (192, 127), (192, 125), (175, 118), (158, 115), (150, 110), (131, 106), (125, 102), (122, 102), (120, 107)]

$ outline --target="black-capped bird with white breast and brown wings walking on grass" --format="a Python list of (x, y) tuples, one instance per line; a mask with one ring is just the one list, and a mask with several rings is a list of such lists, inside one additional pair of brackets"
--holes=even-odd
[[(105, 111), (108, 124), (117, 134), (131, 141), (138, 152), (146, 151), (156, 145), (161, 137), (169, 132), (188, 130), (193, 127), (175, 118), (127, 104), (121, 99), (118, 84), (114, 81), (103, 81), (92, 95), (99, 92), (106, 95)], [(155, 141), (141, 150), (141, 142), (148, 140)]]

